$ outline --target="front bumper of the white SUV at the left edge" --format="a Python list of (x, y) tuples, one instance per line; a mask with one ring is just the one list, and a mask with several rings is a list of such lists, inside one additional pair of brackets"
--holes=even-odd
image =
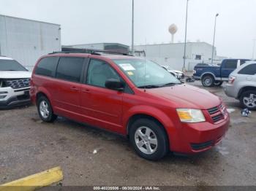
[(0, 87), (0, 109), (10, 109), (15, 106), (30, 104), (30, 87), (12, 89), (12, 87)]

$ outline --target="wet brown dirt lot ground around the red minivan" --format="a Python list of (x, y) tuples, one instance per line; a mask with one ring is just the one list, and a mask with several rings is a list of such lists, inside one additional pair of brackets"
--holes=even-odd
[(235, 109), (225, 139), (200, 155), (158, 162), (138, 157), (121, 136), (62, 117), (42, 122), (35, 106), (0, 111), (0, 184), (60, 165), (63, 185), (256, 185), (256, 112), (241, 117), (238, 101), (208, 90)]

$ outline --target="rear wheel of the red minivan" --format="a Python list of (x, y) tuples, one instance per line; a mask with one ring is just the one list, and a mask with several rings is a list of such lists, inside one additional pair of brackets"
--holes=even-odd
[(37, 112), (41, 120), (44, 122), (53, 122), (57, 118), (57, 115), (53, 114), (50, 101), (43, 95), (37, 100)]

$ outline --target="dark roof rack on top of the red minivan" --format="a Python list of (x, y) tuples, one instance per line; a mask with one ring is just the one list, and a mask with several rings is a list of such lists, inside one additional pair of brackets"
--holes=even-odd
[(124, 52), (115, 52), (115, 51), (110, 51), (110, 50), (80, 49), (80, 48), (69, 48), (69, 47), (62, 47), (62, 51), (52, 52), (52, 53), (49, 53), (49, 55), (58, 54), (58, 53), (64, 53), (64, 54), (86, 53), (86, 54), (91, 54), (91, 55), (128, 55), (128, 56), (132, 56), (132, 55), (129, 55)]

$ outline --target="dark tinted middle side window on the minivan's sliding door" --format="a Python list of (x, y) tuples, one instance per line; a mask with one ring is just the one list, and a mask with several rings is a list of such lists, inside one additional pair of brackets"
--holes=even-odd
[(80, 76), (83, 69), (84, 58), (65, 58), (59, 59), (56, 78), (71, 82), (80, 82)]

